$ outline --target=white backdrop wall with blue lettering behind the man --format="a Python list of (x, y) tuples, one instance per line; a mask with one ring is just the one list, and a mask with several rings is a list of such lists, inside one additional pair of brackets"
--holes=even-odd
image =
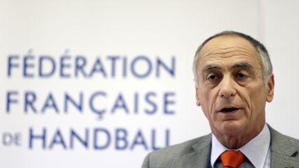
[[(141, 167), (154, 147), (209, 133), (195, 105), (192, 58), (204, 39), (222, 30), (244, 32), (268, 48), (275, 98), (266, 106), (266, 120), (299, 138), (298, 6), (295, 0), (1, 0), (0, 167)], [(49, 77), (39, 76), (43, 55), (57, 64)], [(98, 73), (75, 77), (78, 57)], [(157, 66), (157, 59), (165, 66)], [(133, 71), (148, 75), (132, 73), (134, 60)], [(49, 61), (40, 67), (53, 70)], [(72, 104), (64, 111), (65, 93), (77, 103), (82, 94), (81, 111)], [(102, 119), (91, 106), (107, 110)], [(72, 131), (82, 139), (73, 146)]]

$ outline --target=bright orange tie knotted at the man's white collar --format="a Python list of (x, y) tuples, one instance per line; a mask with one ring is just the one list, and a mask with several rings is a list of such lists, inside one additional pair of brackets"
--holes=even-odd
[(245, 160), (241, 151), (224, 151), (220, 156), (224, 168), (237, 168)]

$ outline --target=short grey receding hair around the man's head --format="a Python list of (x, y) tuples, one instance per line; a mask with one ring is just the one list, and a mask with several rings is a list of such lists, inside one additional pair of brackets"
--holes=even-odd
[(196, 86), (197, 86), (197, 65), (199, 63), (199, 52), (201, 51), (203, 46), (205, 46), (208, 43), (208, 41), (210, 41), (211, 39), (214, 39), (215, 37), (219, 37), (222, 35), (237, 35), (239, 37), (246, 39), (253, 45), (253, 47), (257, 50), (258, 55), (260, 55), (260, 62), (262, 64), (262, 70), (263, 70), (262, 71), (263, 80), (264, 80), (264, 83), (266, 84), (266, 82), (268, 82), (268, 80), (269, 80), (269, 75), (272, 74), (273, 68), (272, 68), (272, 64), (271, 64), (271, 60), (270, 60), (268, 51), (266, 50), (265, 46), (262, 43), (260, 43), (260, 41), (257, 41), (256, 39), (253, 39), (253, 37), (251, 37), (249, 35), (245, 35), (242, 32), (224, 31), (224, 32), (219, 32), (216, 35), (212, 35), (211, 37), (209, 37), (208, 39), (203, 41), (203, 43), (199, 46), (199, 48), (197, 48), (197, 51), (196, 51), (194, 59), (193, 59), (193, 73), (194, 73), (194, 82), (195, 82)]

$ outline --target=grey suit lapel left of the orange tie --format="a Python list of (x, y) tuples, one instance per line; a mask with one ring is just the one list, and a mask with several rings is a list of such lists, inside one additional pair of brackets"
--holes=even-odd
[(206, 168), (210, 166), (211, 134), (204, 136), (192, 146), (194, 151), (183, 156), (183, 168)]

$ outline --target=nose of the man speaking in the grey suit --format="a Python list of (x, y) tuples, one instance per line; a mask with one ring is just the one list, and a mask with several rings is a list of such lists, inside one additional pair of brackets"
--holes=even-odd
[(227, 99), (229, 97), (234, 96), (237, 93), (235, 89), (235, 80), (233, 80), (232, 77), (223, 77), (219, 86), (219, 97), (221, 98)]

